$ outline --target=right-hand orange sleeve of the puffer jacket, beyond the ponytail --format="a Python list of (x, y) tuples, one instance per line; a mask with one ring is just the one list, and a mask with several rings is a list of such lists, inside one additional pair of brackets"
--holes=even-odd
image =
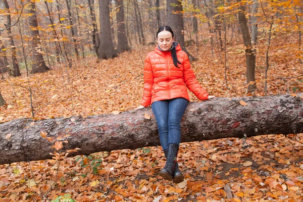
[(190, 67), (190, 62), (187, 54), (184, 52), (183, 61), (183, 79), (187, 88), (193, 92), (193, 94), (200, 100), (208, 99), (208, 92), (201, 87), (198, 81), (195, 79), (193, 70)]

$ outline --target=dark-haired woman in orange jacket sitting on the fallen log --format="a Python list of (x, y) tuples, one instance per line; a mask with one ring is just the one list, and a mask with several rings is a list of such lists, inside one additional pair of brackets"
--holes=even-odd
[(151, 105), (167, 160), (159, 175), (180, 183), (184, 176), (176, 158), (181, 139), (181, 118), (189, 102), (187, 88), (200, 100), (215, 96), (210, 96), (195, 79), (188, 56), (174, 41), (174, 33), (169, 26), (159, 28), (157, 42), (158, 46), (145, 58), (143, 97), (136, 110)]

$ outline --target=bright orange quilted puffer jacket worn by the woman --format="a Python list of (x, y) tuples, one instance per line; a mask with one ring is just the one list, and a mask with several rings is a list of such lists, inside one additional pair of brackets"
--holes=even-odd
[[(187, 88), (200, 100), (208, 99), (208, 92), (195, 79), (187, 54), (176, 47), (181, 64), (175, 67), (171, 51), (158, 49), (149, 52), (144, 62), (144, 89), (141, 105), (147, 107), (155, 101), (183, 97), (189, 101)], [(186, 84), (186, 86), (185, 86)]]

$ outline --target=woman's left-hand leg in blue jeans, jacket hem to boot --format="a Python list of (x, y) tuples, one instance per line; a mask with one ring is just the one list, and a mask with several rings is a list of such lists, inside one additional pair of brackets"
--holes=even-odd
[(167, 149), (168, 145), (168, 100), (156, 101), (151, 104), (159, 129), (161, 146)]

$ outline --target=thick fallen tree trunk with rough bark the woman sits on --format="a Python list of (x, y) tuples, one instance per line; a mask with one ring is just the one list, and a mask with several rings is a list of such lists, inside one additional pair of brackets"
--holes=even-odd
[[(220, 97), (190, 103), (181, 121), (182, 142), (301, 132), (303, 99), (291, 95)], [(68, 141), (60, 151), (81, 149), (69, 156), (160, 145), (150, 108), (85, 119), (17, 119), (0, 124), (0, 164), (52, 158), (49, 153), (54, 153), (54, 142), (47, 138), (58, 137), (57, 141)]]

